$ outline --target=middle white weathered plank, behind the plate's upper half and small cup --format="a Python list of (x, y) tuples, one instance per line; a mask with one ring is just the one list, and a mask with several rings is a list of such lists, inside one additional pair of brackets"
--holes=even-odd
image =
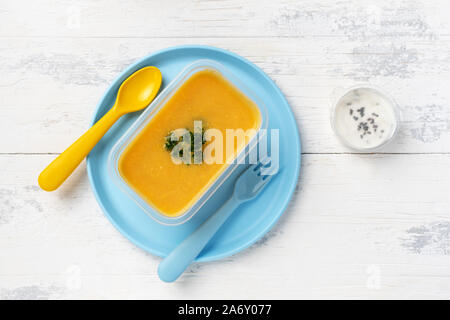
[(275, 80), (297, 118), (304, 152), (347, 152), (333, 136), (336, 88), (385, 88), (403, 111), (385, 152), (450, 152), (450, 37), (376, 46), (327, 38), (7, 39), (0, 43), (0, 152), (61, 152), (88, 126), (108, 84), (127, 65), (167, 46), (223, 47)]

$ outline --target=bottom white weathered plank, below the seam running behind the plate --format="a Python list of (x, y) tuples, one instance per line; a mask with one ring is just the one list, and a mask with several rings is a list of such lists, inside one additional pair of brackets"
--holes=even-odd
[(39, 190), (52, 157), (0, 156), (0, 298), (448, 297), (450, 155), (305, 155), (273, 231), (173, 285), (103, 216), (83, 169)]

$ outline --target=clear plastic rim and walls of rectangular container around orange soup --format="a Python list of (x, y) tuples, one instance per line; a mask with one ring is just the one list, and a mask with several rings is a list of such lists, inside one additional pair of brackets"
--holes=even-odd
[(194, 216), (198, 210), (206, 203), (206, 201), (214, 194), (214, 192), (222, 185), (222, 183), (231, 175), (231, 173), (240, 165), (238, 161), (234, 161), (230, 164), (224, 164), (225, 169), (222, 170), (220, 175), (211, 183), (208, 188), (198, 197), (198, 200), (185, 209), (180, 215), (175, 217), (169, 217), (164, 213), (157, 210), (146, 200), (144, 200), (133, 188), (126, 182), (119, 172), (119, 159), (127, 146), (136, 138), (140, 131), (149, 123), (149, 121), (161, 110), (172, 95), (180, 88), (183, 83), (193, 76), (195, 73), (203, 70), (213, 70), (218, 72), (223, 78), (228, 80), (234, 87), (243, 93), (247, 98), (252, 100), (259, 109), (261, 115), (261, 124), (249, 143), (242, 148), (236, 159), (242, 159), (251, 150), (253, 150), (260, 141), (263, 134), (261, 130), (268, 127), (268, 113), (258, 96), (252, 92), (245, 84), (243, 84), (236, 76), (234, 76), (223, 65), (211, 61), (211, 60), (197, 60), (196, 62), (188, 65), (183, 71), (180, 72), (169, 85), (156, 97), (156, 99), (145, 109), (145, 111), (139, 116), (139, 118), (131, 125), (131, 127), (125, 132), (125, 134), (114, 145), (109, 156), (109, 173), (111, 179), (131, 198), (133, 199), (151, 218), (165, 225), (179, 225)]

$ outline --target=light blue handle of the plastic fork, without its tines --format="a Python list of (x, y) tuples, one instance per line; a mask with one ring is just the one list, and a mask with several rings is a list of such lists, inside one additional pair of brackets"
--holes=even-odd
[(181, 242), (158, 267), (159, 278), (173, 282), (200, 254), (217, 230), (227, 221), (240, 202), (231, 197), (225, 204), (203, 224)]

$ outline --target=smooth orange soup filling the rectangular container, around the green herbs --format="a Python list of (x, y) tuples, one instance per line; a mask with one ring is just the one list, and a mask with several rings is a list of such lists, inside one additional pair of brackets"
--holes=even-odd
[[(196, 120), (204, 129), (219, 130), (225, 139), (227, 129), (259, 129), (261, 114), (253, 101), (214, 70), (195, 73), (177, 89), (119, 159), (119, 172), (128, 185), (169, 217), (183, 214), (228, 165), (173, 161), (165, 148), (168, 133), (193, 130)], [(247, 143), (236, 143), (235, 153)], [(225, 142), (223, 148), (225, 155)]]

